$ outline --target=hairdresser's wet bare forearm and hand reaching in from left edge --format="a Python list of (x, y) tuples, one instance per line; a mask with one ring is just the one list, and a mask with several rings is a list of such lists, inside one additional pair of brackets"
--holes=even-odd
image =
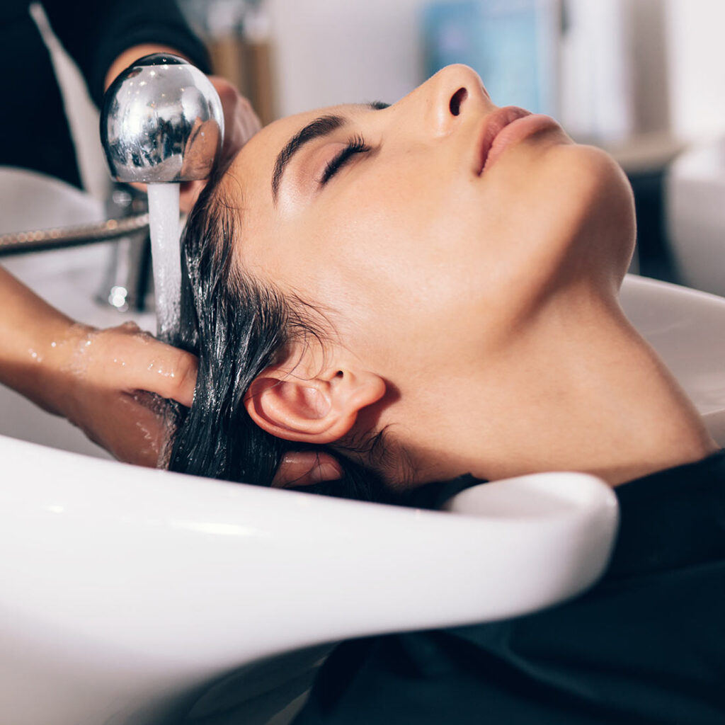
[(121, 460), (156, 465), (166, 431), (148, 393), (191, 405), (196, 358), (141, 333), (78, 325), (0, 268), (0, 384), (64, 415)]

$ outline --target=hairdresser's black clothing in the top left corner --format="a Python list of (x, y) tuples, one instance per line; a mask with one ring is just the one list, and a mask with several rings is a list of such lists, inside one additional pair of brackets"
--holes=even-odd
[[(51, 26), (78, 63), (96, 104), (106, 73), (128, 48), (171, 46), (205, 72), (207, 53), (173, 0), (44, 0)], [(80, 186), (62, 98), (29, 0), (0, 2), (0, 65), (6, 69), (0, 165), (41, 171)]]

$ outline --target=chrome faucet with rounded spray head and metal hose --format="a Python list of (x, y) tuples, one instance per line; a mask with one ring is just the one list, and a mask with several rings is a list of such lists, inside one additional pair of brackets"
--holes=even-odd
[[(114, 80), (101, 108), (101, 141), (111, 175), (126, 183), (208, 178), (224, 136), (219, 96), (209, 78), (183, 58), (154, 53)], [(99, 299), (143, 310), (149, 288), (149, 215), (135, 189), (117, 185), (112, 217), (93, 225), (0, 236), (0, 256), (120, 239)]]

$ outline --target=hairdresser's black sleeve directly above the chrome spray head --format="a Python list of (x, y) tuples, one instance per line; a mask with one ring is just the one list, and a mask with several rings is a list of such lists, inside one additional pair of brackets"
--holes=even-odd
[(207, 51), (174, 0), (43, 0), (43, 7), (98, 105), (109, 67), (132, 46), (167, 45), (210, 72)]

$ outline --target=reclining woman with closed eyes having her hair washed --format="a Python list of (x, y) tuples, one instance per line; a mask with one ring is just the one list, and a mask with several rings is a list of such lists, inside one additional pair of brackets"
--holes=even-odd
[(337, 494), (574, 470), (621, 503), (589, 594), (342, 645), (299, 722), (721, 721), (725, 460), (618, 305), (633, 244), (616, 163), (462, 66), (278, 121), (204, 190), (171, 468), (269, 484), (303, 448)]

